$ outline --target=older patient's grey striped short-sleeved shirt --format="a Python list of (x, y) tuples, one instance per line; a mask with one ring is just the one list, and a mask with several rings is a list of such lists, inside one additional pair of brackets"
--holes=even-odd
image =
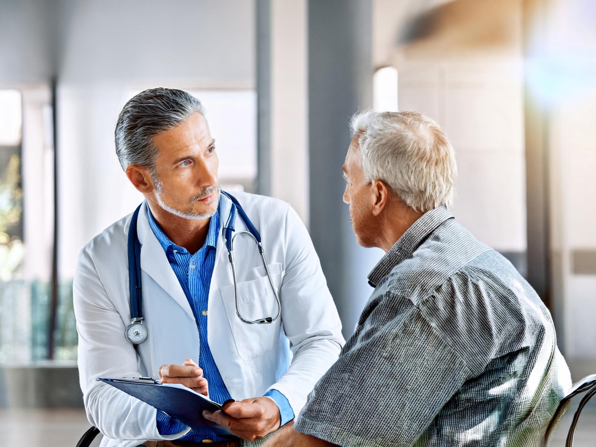
[(445, 207), (368, 277), (339, 360), (297, 419), (342, 446), (538, 446), (571, 385), (551, 315)]

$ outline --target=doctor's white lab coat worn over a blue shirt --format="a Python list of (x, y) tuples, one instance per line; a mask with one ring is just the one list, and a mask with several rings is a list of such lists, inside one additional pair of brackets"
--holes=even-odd
[[(298, 415), (316, 381), (336, 361), (344, 340), (319, 259), (296, 212), (280, 200), (234, 194), (259, 231), (281, 318), (245, 324), (236, 315), (234, 285), (222, 235), (231, 201), (222, 195), (215, 268), (207, 310), (208, 341), (224, 383), (236, 400), (277, 389)], [(162, 436), (156, 409), (97, 377), (157, 377), (163, 364), (197, 360), (197, 325), (176, 275), (151, 231), (146, 204), (137, 232), (141, 248), (143, 315), (149, 335), (135, 347), (125, 338), (131, 322), (127, 237), (131, 215), (105, 229), (80, 252), (74, 281), (79, 332), (80, 386), (89, 421), (102, 446), (136, 446)], [(246, 229), (238, 216), (236, 231)], [(252, 238), (234, 241), (239, 305), (245, 319), (275, 316), (277, 304)], [(131, 440), (131, 441), (125, 441)], [(134, 440), (134, 441), (132, 441)]]

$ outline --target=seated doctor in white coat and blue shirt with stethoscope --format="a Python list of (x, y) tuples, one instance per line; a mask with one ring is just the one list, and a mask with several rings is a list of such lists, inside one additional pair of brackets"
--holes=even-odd
[[(145, 196), (132, 222), (140, 247), (132, 290), (141, 287), (142, 302), (137, 312), (129, 299), (132, 215), (83, 247), (73, 286), (80, 386), (102, 446), (224, 439), (190, 431), (98, 377), (159, 377), (208, 389), (220, 403), (234, 399), (225, 406), (232, 433), (254, 440), (298, 415), (344, 343), (306, 228), (280, 200), (221, 193), (203, 113), (187, 92), (156, 88), (128, 101), (116, 125), (120, 164)], [(266, 264), (241, 233), (253, 229)]]

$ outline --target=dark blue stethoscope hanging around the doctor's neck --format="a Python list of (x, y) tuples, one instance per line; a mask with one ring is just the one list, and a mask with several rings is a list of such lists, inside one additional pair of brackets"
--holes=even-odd
[[(271, 274), (269, 273), (269, 267), (267, 265), (267, 260), (265, 259), (265, 250), (263, 249), (263, 244), (261, 243), (260, 234), (257, 229), (254, 228), (249, 216), (246, 215), (246, 212), (244, 212), (244, 209), (240, 206), (238, 199), (233, 195), (226, 193), (225, 191), (221, 191), (221, 193), (232, 201), (232, 207), (230, 209), (228, 219), (224, 225), (224, 238), (226, 249), (228, 249), (229, 263), (232, 268), (232, 279), (234, 280), (236, 315), (242, 322), (246, 324), (272, 323), (278, 319), (281, 314), (281, 303), (275, 285), (273, 284)], [(131, 224), (129, 225), (128, 229), (128, 275), (131, 300), (131, 324), (126, 327), (125, 335), (126, 340), (132, 344), (140, 344), (147, 340), (148, 336), (147, 325), (143, 324), (144, 318), (142, 316), (141, 242), (139, 241), (139, 237), (136, 234), (136, 222), (138, 221), (139, 210), (141, 209), (141, 206), (142, 204), (139, 205), (132, 214)], [(242, 219), (248, 231), (238, 231), (232, 235), (232, 232), (235, 231), (234, 223), (236, 221), (236, 215), (240, 215), (240, 219)], [(246, 234), (252, 237), (259, 248), (259, 254), (263, 262), (263, 267), (265, 267), (269, 285), (271, 285), (271, 289), (275, 295), (275, 301), (277, 302), (277, 315), (275, 316), (266, 316), (263, 318), (249, 320), (243, 318), (240, 313), (240, 309), (238, 308), (238, 284), (236, 281), (236, 267), (234, 264), (234, 240), (241, 234)]]

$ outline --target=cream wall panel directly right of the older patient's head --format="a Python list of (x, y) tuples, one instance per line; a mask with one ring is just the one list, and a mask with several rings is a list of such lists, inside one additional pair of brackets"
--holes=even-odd
[(455, 149), (452, 212), (501, 252), (526, 251), (520, 61), (403, 62), (399, 108), (432, 117)]

